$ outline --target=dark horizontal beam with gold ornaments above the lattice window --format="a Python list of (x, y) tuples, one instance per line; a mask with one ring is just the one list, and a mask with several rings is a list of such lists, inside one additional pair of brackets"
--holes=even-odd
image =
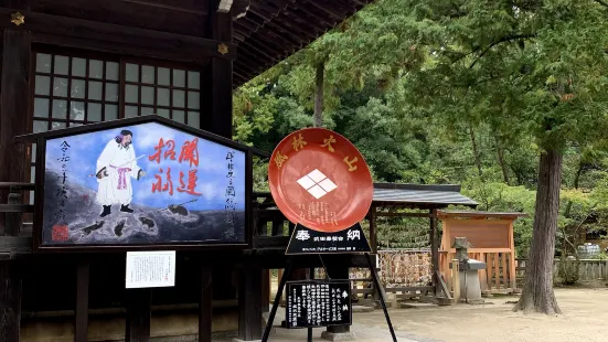
[[(15, 26), (10, 22), (10, 14), (15, 11), (0, 8), (0, 28), (22, 32), (30, 31), (32, 41), (36, 43), (118, 51), (163, 58), (171, 56), (180, 61), (202, 61), (209, 57), (234, 60), (236, 57), (236, 46), (230, 40), (203, 39), (29, 11), (23, 11), (25, 23)], [(221, 43), (228, 46), (227, 53), (222, 54), (218, 51), (217, 45)]]

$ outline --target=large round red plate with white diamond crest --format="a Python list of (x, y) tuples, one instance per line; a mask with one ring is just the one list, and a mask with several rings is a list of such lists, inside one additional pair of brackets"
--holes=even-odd
[(289, 221), (326, 233), (363, 220), (374, 195), (363, 156), (346, 138), (323, 128), (282, 139), (270, 158), (268, 182)]

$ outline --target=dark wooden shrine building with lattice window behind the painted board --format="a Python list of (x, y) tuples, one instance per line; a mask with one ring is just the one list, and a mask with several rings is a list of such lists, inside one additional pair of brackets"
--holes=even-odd
[(273, 247), (286, 242), (180, 250), (175, 287), (126, 290), (124, 250), (33, 253), (43, 178), (36, 145), (13, 138), (157, 114), (230, 139), (235, 87), (367, 2), (1, 1), (0, 342), (259, 339), (262, 272), (284, 266)]

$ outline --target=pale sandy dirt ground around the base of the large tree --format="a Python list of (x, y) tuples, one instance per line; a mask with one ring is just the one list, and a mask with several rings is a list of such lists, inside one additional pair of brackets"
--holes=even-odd
[[(458, 304), (391, 310), (399, 335), (417, 335), (446, 342), (567, 342), (608, 341), (608, 289), (556, 289), (564, 314), (513, 312), (515, 297), (487, 299), (487, 304)], [(385, 328), (382, 310), (361, 313), (356, 323)], [(386, 330), (387, 331), (387, 330)]]

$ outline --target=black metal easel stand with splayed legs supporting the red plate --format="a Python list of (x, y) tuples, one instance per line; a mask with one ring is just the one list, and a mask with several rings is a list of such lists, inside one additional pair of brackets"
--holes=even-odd
[[(298, 226), (298, 225), (297, 225)], [(298, 229), (294, 229), (294, 235), (291, 236), (291, 239), (294, 239), (294, 236), (296, 235), (296, 232)], [(365, 241), (365, 243), (367, 243)], [(305, 254), (305, 253), (302, 253)], [(319, 253), (308, 253), (308, 254), (318, 254)], [(334, 252), (332, 254), (353, 254), (348, 252)], [(388, 330), (391, 330), (391, 335), (393, 336), (393, 342), (397, 342), (397, 338), (395, 335), (395, 330), (393, 329), (393, 323), (391, 322), (391, 318), (388, 317), (388, 310), (386, 309), (386, 301), (384, 300), (384, 291), (382, 290), (378, 277), (377, 277), (377, 270), (375, 266), (372, 263), (372, 257), (369, 252), (365, 252), (365, 259), (367, 260), (367, 267), (370, 268), (370, 272), (372, 274), (372, 280), (374, 281), (374, 287), (377, 291), (377, 295), (380, 297), (380, 302), (382, 306), (382, 310), (384, 311), (384, 318), (386, 318), (386, 323), (388, 324)], [(275, 321), (275, 316), (277, 314), (277, 310), (279, 307), (280, 298), (282, 296), (282, 292), (285, 290), (285, 284), (287, 282), (287, 279), (289, 279), (289, 276), (291, 275), (291, 269), (294, 267), (294, 259), (295, 255), (289, 255), (287, 258), (287, 265), (285, 267), (285, 272), (282, 274), (282, 277), (279, 282), (279, 288), (277, 289), (277, 295), (275, 296), (275, 301), (273, 302), (273, 309), (270, 310), (270, 316), (268, 317), (268, 322), (266, 323), (266, 328), (264, 329), (264, 334), (262, 335), (262, 342), (268, 342), (268, 336), (270, 335), (270, 330), (273, 329), (273, 322)], [(311, 271), (313, 268), (311, 268)], [(327, 270), (326, 270), (327, 271)], [(314, 277), (311, 272), (312, 278)], [(312, 341), (312, 328), (308, 328), (308, 338), (307, 341)]]

